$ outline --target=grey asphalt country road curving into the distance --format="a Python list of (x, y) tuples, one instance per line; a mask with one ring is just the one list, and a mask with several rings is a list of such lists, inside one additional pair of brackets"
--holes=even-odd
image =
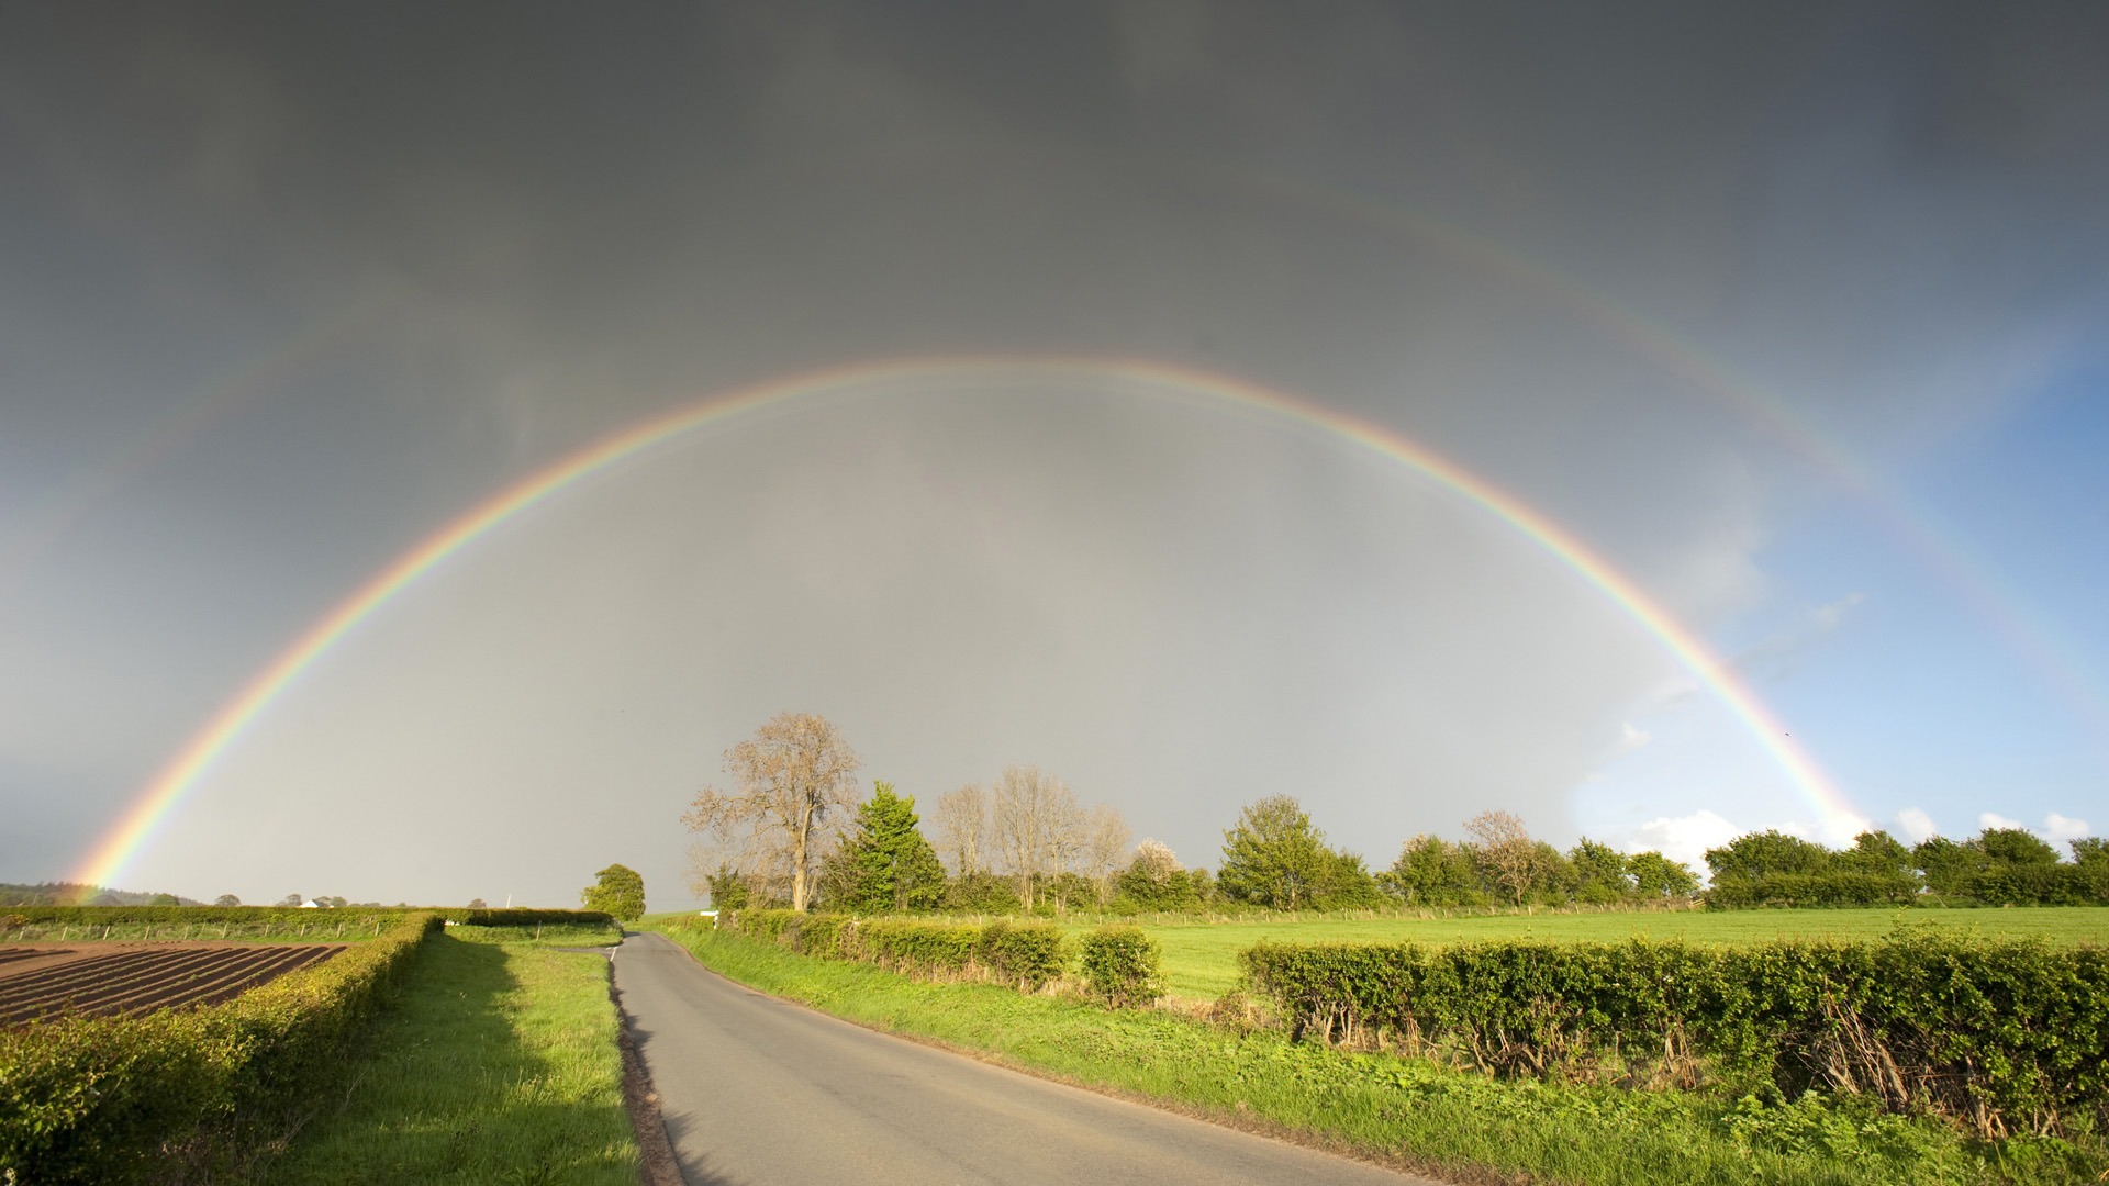
[(662, 935), (616, 950), (616, 988), (690, 1186), (1434, 1186), (863, 1030)]

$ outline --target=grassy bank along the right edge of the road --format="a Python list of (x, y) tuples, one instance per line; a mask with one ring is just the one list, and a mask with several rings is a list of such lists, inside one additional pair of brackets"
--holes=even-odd
[(2056, 1142), (1980, 1146), (1932, 1121), (1818, 1097), (1793, 1106), (1546, 1083), (1238, 1034), (1170, 1013), (795, 956), (671, 931), (707, 967), (882, 1030), (1457, 1180), (1573, 1184), (2075, 1182), (2109, 1159)]

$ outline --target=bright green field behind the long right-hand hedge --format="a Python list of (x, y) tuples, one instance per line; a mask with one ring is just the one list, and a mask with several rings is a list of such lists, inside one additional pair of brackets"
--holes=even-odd
[(2109, 907), (2039, 905), (2029, 910), (1677, 910), (1590, 914), (1481, 914), (1457, 918), (1274, 918), (1265, 922), (1143, 922), (1164, 950), (1173, 996), (1217, 998), (1238, 979), (1238, 952), (1276, 943), (1468, 943), (1474, 939), (1548, 939), (1618, 943), (1757, 943), (1765, 939), (1875, 939), (1898, 922), (1953, 926), (1997, 939), (2109, 943)]

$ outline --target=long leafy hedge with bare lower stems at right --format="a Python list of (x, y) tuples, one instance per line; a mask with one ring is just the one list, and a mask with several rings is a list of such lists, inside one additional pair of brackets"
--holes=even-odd
[(1873, 943), (1270, 945), (1240, 954), (1297, 1036), (1495, 1074), (1860, 1093), (1980, 1135), (2109, 1125), (2109, 948)]

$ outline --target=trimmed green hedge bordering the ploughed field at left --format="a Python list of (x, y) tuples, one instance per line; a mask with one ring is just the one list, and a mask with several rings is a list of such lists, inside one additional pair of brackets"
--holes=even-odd
[(437, 914), (401, 916), (371, 943), (224, 1005), (0, 1034), (0, 1178), (211, 1178), (278, 1135), (272, 1121), (340, 1066), (439, 924)]

